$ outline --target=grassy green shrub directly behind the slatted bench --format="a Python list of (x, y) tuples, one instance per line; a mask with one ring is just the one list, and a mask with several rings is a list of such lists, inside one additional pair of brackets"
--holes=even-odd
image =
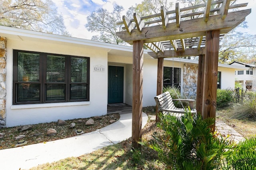
[[(180, 89), (172, 86), (164, 87), (163, 92), (169, 92), (173, 99), (181, 99)], [(180, 101), (173, 101), (174, 106), (178, 108), (187, 107), (188, 103), (180, 102)]]

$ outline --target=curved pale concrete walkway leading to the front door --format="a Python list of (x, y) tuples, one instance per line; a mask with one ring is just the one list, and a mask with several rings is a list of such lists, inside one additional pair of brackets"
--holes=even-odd
[[(142, 115), (142, 128), (148, 116)], [(111, 125), (79, 136), (0, 150), (0, 170), (29, 169), (39, 164), (80, 156), (124, 141), (132, 136), (132, 113), (121, 113)]]

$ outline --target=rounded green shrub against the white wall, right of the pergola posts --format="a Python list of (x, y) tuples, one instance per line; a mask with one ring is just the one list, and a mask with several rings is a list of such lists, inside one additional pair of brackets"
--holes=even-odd
[(229, 89), (217, 89), (217, 107), (228, 106), (233, 102), (233, 91)]

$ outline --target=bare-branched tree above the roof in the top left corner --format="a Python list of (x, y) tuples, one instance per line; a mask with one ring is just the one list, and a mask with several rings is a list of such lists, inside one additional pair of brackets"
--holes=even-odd
[(52, 0), (1, 0), (0, 25), (70, 36), (56, 11)]

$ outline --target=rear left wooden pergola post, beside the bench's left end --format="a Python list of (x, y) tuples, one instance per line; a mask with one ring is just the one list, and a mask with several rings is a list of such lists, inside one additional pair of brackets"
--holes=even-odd
[[(156, 95), (162, 94), (163, 84), (164, 84), (164, 58), (157, 59), (157, 85), (156, 85)], [(159, 122), (158, 117), (158, 107), (156, 106), (156, 122)]]

